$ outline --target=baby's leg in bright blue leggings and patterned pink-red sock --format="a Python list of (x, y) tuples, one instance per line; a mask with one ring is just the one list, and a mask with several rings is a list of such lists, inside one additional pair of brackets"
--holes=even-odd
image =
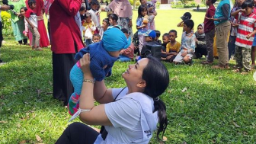
[(70, 81), (74, 87), (74, 93), (69, 98), (69, 114), (73, 115), (79, 108), (79, 97), (82, 91), (82, 82), (84, 75), (80, 69), (80, 64), (77, 62), (70, 71)]

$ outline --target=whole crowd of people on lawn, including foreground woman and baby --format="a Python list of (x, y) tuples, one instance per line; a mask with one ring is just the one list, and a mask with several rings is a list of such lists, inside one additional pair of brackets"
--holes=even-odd
[[(234, 72), (246, 74), (254, 68), (256, 0), (237, 0), (234, 8), (229, 0), (221, 0), (217, 8), (215, 2), (206, 0), (209, 8), (197, 28), (190, 12), (183, 14), (177, 24), (183, 27), (178, 42), (174, 29), (159, 40), (155, 0), (140, 0), (136, 26), (128, 0), (113, 0), (105, 7), (97, 0), (14, 1), (14, 11), (19, 11), (11, 13), (15, 40), (27, 44), (29, 37), (33, 50), (50, 45), (43, 14), (49, 16), (53, 98), (68, 105), (71, 120), (79, 116), (84, 123), (103, 126), (98, 132), (72, 123), (56, 143), (148, 143), (155, 130), (157, 136), (165, 133), (166, 107), (159, 96), (168, 87), (169, 76), (160, 60), (191, 65), (192, 59), (204, 56), (203, 65), (218, 58), (212, 68), (229, 69), (229, 59), (235, 55)], [(101, 11), (107, 11), (102, 21)], [(137, 30), (134, 34), (132, 27)], [(107, 88), (104, 78), (112, 75), (114, 62), (133, 59), (136, 64), (122, 74), (126, 87)]]

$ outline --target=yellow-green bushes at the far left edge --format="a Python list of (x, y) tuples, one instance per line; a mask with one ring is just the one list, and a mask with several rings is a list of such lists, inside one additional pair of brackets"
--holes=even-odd
[(1, 11), (1, 18), (2, 18), (2, 34), (3, 37), (11, 37), (14, 36), (11, 27), (11, 14), (7, 11)]

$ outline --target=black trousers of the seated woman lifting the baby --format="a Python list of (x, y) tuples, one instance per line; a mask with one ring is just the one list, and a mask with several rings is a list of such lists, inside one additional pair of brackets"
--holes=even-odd
[(84, 123), (72, 123), (59, 137), (56, 144), (93, 144), (99, 133)]

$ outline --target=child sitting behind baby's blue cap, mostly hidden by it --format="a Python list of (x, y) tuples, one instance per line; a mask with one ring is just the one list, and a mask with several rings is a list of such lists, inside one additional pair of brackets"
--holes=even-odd
[[(126, 38), (129, 39), (129, 31), (126, 28), (122, 28), (121, 31), (123, 34), (126, 35)], [(134, 53), (134, 45), (133, 43), (130, 44), (130, 46), (126, 50), (120, 51), (119, 60), (121, 62), (128, 62), (130, 60), (133, 60), (133, 53)]]

